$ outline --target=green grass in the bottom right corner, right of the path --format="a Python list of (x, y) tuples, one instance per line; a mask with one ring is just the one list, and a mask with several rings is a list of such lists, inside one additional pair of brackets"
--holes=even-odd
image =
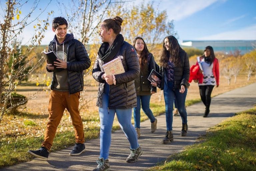
[(147, 171), (255, 171), (256, 108), (226, 119), (198, 140)]

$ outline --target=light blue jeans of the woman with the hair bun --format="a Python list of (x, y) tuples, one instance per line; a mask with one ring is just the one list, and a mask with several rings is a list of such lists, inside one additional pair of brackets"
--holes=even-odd
[(129, 109), (108, 109), (109, 96), (102, 93), (102, 107), (99, 107), (100, 115), (100, 157), (108, 159), (111, 144), (111, 130), (115, 113), (125, 136), (130, 142), (131, 149), (139, 147), (137, 133), (132, 125), (132, 108)]

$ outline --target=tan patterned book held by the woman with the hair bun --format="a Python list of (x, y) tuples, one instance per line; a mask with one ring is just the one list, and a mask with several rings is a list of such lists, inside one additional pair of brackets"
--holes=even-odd
[(117, 57), (105, 64), (102, 65), (104, 72), (107, 75), (117, 75), (125, 72), (122, 60), (120, 57)]

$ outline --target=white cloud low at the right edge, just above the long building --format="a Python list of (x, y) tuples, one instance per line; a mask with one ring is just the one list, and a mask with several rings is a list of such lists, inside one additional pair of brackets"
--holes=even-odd
[(235, 31), (201, 37), (197, 40), (256, 40), (256, 24)]

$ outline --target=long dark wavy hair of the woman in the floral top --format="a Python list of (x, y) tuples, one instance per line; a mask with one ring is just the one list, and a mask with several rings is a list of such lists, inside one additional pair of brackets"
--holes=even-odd
[(174, 36), (167, 36), (164, 39), (169, 40), (169, 50), (167, 51), (163, 42), (163, 51), (159, 60), (161, 67), (166, 67), (168, 61), (172, 61), (174, 65), (177, 65), (181, 60), (179, 57), (180, 51), (183, 49), (180, 47), (178, 40)]

